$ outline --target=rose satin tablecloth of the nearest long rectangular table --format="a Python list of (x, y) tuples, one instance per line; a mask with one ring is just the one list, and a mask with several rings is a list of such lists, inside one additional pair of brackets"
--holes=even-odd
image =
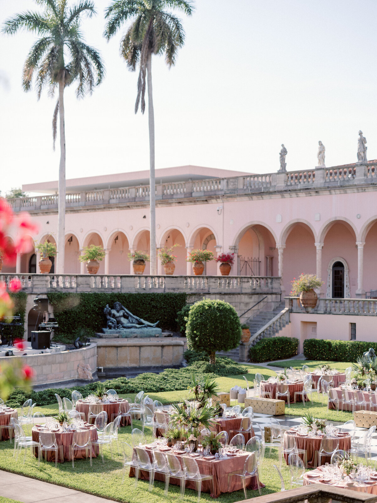
[[(152, 460), (151, 448), (148, 446), (143, 446), (150, 459)], [(169, 452), (169, 451), (163, 451)], [(181, 466), (183, 466), (182, 455), (187, 455), (187, 453), (176, 454), (172, 449), (171, 453), (175, 454), (179, 459)], [(249, 453), (237, 454), (236, 456), (228, 459), (220, 459), (216, 460), (216, 458), (209, 460), (204, 459), (203, 457), (194, 456), (194, 459), (197, 461), (199, 466), (199, 471), (203, 475), (212, 475), (214, 481), (214, 493), (211, 492), (211, 480), (203, 480), (202, 482), (202, 492), (210, 492), (213, 498), (217, 498), (220, 496), (221, 492), (228, 492), (228, 473), (234, 472), (237, 470), (243, 470), (245, 465), (245, 461)], [(133, 467), (130, 468), (130, 477), (135, 476), (135, 469)], [(139, 472), (139, 478), (144, 480), (149, 480), (149, 473), (143, 470)], [(155, 480), (164, 481), (164, 476), (162, 473), (155, 473)], [(174, 477), (170, 477), (170, 484), (179, 485), (180, 480)], [(196, 489), (195, 482), (193, 480), (186, 480), (185, 487), (187, 489)], [(258, 489), (258, 484), (256, 481), (256, 477), (250, 477), (246, 479), (246, 487), (248, 489)], [(260, 487), (264, 487), (262, 483), (260, 483)], [(239, 491), (242, 489), (242, 481), (240, 477), (232, 477), (231, 478), (231, 486), (230, 491)]]

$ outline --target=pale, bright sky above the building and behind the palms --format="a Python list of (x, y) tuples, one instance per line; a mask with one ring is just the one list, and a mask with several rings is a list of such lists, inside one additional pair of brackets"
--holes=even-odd
[[(65, 90), (66, 177), (149, 168), (148, 114), (134, 113), (137, 72), (119, 55), (124, 27), (102, 37), (109, 0), (84, 20), (86, 43), (107, 75), (92, 96)], [(377, 2), (364, 0), (197, 0), (180, 15), (186, 42), (170, 70), (152, 60), (156, 168), (197, 164), (271, 173), (284, 143), (289, 171), (355, 162), (358, 130), (377, 157)], [(39, 10), (32, 0), (0, 0), (0, 20)], [(52, 149), (55, 100), (25, 93), (22, 68), (35, 36), (0, 35), (0, 190), (57, 180)], [(4, 83), (5, 81), (5, 83)]]

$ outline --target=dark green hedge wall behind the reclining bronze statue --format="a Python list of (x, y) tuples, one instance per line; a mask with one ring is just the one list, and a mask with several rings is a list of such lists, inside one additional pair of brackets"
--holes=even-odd
[(136, 316), (159, 328), (177, 330), (177, 312), (186, 304), (185, 293), (61, 293), (48, 295), (59, 331), (65, 336), (92, 336), (106, 327), (104, 307), (121, 302)]

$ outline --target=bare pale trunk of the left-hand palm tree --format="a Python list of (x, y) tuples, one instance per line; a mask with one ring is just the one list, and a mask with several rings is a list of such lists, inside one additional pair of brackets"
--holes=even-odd
[(58, 242), (56, 274), (64, 273), (64, 234), (65, 234), (65, 129), (64, 129), (64, 77), (59, 82), (59, 119), (60, 119), (60, 164), (58, 186)]

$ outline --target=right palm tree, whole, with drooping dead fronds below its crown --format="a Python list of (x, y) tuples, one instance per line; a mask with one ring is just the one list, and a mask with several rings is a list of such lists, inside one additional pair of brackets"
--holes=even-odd
[(149, 201), (150, 201), (150, 263), (151, 274), (156, 274), (156, 190), (154, 178), (154, 112), (152, 98), (152, 54), (165, 54), (166, 63), (175, 63), (179, 47), (184, 43), (184, 30), (180, 20), (166, 9), (177, 9), (191, 16), (194, 10), (189, 0), (114, 0), (105, 11), (108, 23), (104, 36), (109, 40), (123, 23), (132, 19), (131, 26), (121, 40), (121, 55), (128, 67), (135, 71), (139, 63), (139, 79), (135, 114), (141, 101), (145, 111), (145, 76), (148, 82), (149, 114)]

